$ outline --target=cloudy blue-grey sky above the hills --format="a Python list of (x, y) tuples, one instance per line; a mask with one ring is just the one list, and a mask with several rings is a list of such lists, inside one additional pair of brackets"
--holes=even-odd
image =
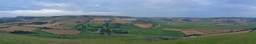
[(256, 0), (1, 0), (0, 17), (256, 17)]

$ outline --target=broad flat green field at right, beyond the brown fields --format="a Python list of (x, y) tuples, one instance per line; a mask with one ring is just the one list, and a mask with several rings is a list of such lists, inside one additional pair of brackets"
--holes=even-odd
[(172, 27), (185, 27), (189, 28), (204, 28), (204, 29), (246, 29), (250, 27), (255, 27), (255, 23), (237, 23), (230, 25), (217, 25), (212, 22), (172, 22), (170, 24)]

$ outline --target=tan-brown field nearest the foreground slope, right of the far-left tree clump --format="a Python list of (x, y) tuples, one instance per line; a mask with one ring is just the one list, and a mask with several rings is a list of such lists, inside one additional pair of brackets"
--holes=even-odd
[(79, 31), (74, 30), (59, 30), (59, 29), (42, 29), (42, 31), (46, 33), (52, 33), (52, 34), (79, 34)]

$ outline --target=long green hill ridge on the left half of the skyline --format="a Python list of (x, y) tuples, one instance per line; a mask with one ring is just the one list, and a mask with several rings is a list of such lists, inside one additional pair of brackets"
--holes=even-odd
[(123, 16), (100, 16), (100, 15), (65, 15), (65, 16), (52, 16), (52, 17), (24, 17), (19, 16), (16, 19), (25, 19), (25, 20), (67, 20), (67, 19), (92, 19), (92, 18), (134, 18), (134, 17), (123, 17)]

